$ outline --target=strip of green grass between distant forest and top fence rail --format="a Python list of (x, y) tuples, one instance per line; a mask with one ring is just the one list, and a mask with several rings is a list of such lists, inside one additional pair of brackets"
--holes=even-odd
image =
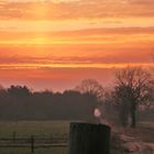
[(16, 136), (68, 136), (69, 121), (18, 121), (0, 122), (0, 138)]

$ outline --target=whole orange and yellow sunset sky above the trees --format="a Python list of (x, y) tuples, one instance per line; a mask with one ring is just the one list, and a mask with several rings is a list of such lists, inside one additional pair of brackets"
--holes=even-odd
[(72, 89), (152, 67), (154, 0), (0, 0), (0, 84)]

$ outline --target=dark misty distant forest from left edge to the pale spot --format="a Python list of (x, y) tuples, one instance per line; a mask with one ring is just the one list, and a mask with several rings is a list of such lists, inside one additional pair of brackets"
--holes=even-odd
[(96, 97), (66, 90), (34, 91), (26, 86), (0, 89), (0, 120), (92, 120)]

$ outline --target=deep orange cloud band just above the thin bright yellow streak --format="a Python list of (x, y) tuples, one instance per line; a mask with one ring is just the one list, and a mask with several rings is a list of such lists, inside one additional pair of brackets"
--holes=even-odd
[(1, 45), (0, 64), (151, 63), (152, 43)]

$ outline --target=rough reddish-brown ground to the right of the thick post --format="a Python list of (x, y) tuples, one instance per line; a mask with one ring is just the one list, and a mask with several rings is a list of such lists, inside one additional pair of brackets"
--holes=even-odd
[(154, 122), (138, 122), (135, 129), (121, 128), (112, 141), (112, 154), (154, 154)]

